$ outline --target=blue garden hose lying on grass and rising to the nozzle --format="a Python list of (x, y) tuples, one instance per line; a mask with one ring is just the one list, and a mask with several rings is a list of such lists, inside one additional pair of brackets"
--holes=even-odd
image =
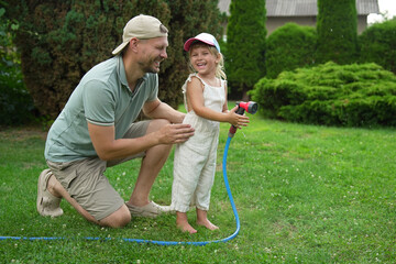
[[(136, 242), (136, 243), (150, 243), (150, 244), (157, 244), (157, 245), (184, 245), (184, 244), (191, 244), (191, 245), (206, 245), (209, 243), (219, 243), (219, 242), (227, 242), (229, 240), (234, 239), (241, 228), (241, 223), (239, 220), (239, 216), (238, 216), (238, 211), (237, 211), (237, 207), (233, 201), (232, 195), (231, 195), (231, 189), (230, 189), (230, 185), (227, 178), (227, 155), (228, 155), (228, 150), (230, 146), (230, 142), (232, 140), (233, 135), (228, 136), (227, 143), (226, 143), (226, 147), (224, 147), (224, 154), (223, 154), (223, 161), (222, 161), (222, 172), (223, 172), (223, 178), (224, 178), (224, 185), (226, 185), (226, 189), (227, 193), (229, 195), (230, 198), (230, 202), (231, 202), (231, 207), (235, 217), (235, 221), (237, 221), (237, 230), (233, 234), (231, 234), (228, 238), (221, 239), (221, 240), (213, 240), (213, 241), (198, 241), (198, 242), (187, 242), (187, 241), (182, 241), (182, 242), (177, 242), (177, 241), (157, 241), (157, 240), (143, 240), (143, 239), (121, 239), (123, 241), (127, 242)], [(66, 238), (62, 238), (62, 237), (0, 237), (0, 240), (66, 240)], [(85, 238), (85, 240), (111, 240), (110, 238)]]

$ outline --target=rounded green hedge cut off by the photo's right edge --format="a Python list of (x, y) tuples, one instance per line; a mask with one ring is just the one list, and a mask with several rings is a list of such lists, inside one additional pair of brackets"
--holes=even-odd
[(362, 63), (376, 63), (396, 74), (396, 18), (367, 28), (359, 41)]

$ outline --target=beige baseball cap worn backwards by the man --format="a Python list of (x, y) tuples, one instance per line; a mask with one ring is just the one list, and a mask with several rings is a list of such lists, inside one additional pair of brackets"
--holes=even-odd
[(132, 37), (141, 40), (167, 36), (168, 30), (154, 16), (140, 14), (132, 18), (123, 29), (122, 43), (112, 51), (113, 55), (119, 54)]

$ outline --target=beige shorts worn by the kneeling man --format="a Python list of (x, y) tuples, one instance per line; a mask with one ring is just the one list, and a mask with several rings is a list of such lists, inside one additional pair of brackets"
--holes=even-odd
[[(147, 131), (148, 123), (150, 121), (133, 123), (123, 138), (143, 136)], [(106, 168), (144, 155), (145, 153), (139, 153), (111, 162), (102, 161), (99, 157), (66, 163), (47, 161), (47, 165), (70, 197), (99, 221), (120, 209), (124, 204), (105, 176)]]

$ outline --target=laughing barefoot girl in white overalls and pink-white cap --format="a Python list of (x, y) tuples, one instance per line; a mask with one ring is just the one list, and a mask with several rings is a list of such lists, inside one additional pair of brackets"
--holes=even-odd
[(175, 150), (174, 183), (170, 209), (176, 211), (176, 224), (182, 231), (196, 233), (187, 220), (190, 206), (197, 210), (197, 224), (218, 229), (207, 217), (210, 190), (215, 180), (216, 156), (219, 142), (219, 122), (237, 128), (246, 127), (249, 118), (237, 114), (237, 107), (227, 108), (227, 84), (223, 57), (219, 43), (208, 33), (189, 38), (190, 74), (182, 87), (187, 116), (184, 123), (195, 129), (195, 134)]

